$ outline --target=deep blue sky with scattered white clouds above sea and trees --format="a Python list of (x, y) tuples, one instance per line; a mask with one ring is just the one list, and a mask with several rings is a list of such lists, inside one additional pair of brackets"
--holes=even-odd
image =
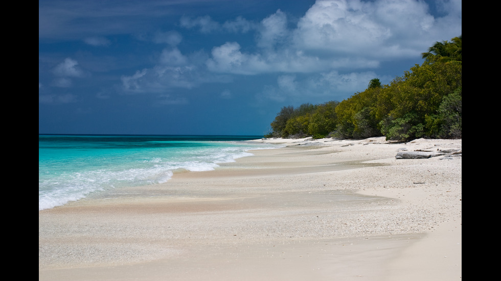
[(461, 34), (461, 0), (39, 0), (38, 133), (264, 135)]

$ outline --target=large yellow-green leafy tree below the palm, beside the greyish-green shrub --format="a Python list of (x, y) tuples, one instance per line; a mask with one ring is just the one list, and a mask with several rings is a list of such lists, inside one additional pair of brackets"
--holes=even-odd
[(381, 133), (389, 140), (437, 136), (443, 98), (461, 83), (461, 62), (424, 62), (412, 67), (379, 95), (376, 117)]

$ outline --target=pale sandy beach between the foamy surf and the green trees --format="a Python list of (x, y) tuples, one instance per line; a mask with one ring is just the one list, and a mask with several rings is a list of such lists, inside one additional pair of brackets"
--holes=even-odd
[(39, 280), (460, 280), (462, 140), (288, 146), (38, 212)]

